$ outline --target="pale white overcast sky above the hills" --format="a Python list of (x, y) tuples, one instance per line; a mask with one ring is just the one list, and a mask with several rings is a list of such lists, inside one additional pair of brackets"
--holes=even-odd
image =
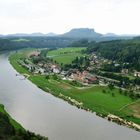
[(72, 28), (140, 34), (140, 0), (0, 0), (0, 34)]

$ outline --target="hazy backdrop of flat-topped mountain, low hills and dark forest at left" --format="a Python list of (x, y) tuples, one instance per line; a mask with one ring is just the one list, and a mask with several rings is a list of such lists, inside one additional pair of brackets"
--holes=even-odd
[[(15, 50), (22, 48), (63, 48), (71, 45), (75, 41), (80, 40), (78, 44), (82, 45), (92, 45), (89, 43), (91, 41), (109, 41), (118, 39), (131, 39), (128, 36), (117, 36), (117, 35), (102, 35), (94, 31), (94, 29), (88, 28), (78, 28), (72, 29), (71, 31), (64, 33), (62, 35), (53, 36), (54, 34), (11, 34), (11, 35), (1, 35), (0, 36), (0, 51), (5, 50)], [(81, 41), (82, 40), (82, 41)], [(78, 45), (73, 44), (73, 45)], [(82, 47), (82, 46), (79, 46)]]

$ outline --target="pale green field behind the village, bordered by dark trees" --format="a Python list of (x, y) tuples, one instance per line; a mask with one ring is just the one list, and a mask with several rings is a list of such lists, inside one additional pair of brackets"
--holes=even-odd
[(49, 51), (47, 56), (53, 58), (59, 64), (70, 64), (76, 57), (84, 56), (81, 53), (85, 48), (60, 48)]

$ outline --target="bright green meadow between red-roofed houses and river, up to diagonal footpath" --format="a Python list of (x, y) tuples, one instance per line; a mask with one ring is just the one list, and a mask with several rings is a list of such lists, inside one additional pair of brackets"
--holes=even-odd
[[(65, 81), (47, 80), (44, 76), (31, 76), (33, 83), (45, 91), (58, 96), (60, 93), (82, 102), (85, 108), (101, 114), (112, 113), (125, 117), (125, 112), (119, 111), (126, 104), (131, 104), (133, 100), (119, 93), (118, 89), (110, 90), (108, 87), (89, 87), (79, 89), (66, 83)], [(56, 88), (57, 87), (57, 88)], [(106, 93), (103, 92), (106, 91)], [(112, 95), (112, 93), (114, 93)]]

